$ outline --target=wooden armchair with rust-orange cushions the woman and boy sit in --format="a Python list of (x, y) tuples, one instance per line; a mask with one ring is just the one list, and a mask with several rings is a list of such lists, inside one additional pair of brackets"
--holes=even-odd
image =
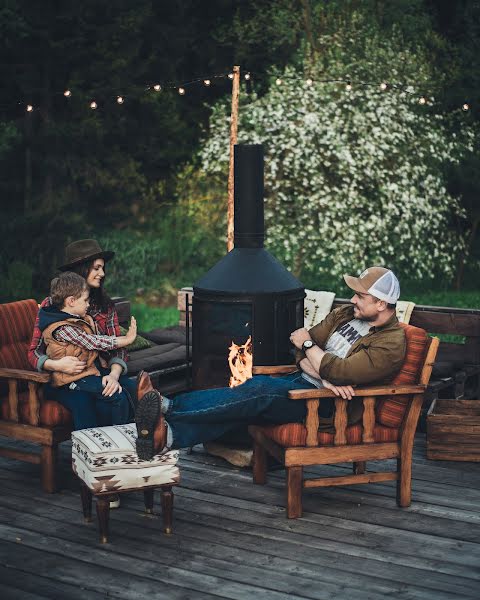
[(47, 373), (32, 370), (27, 352), (38, 312), (35, 300), (0, 305), (0, 435), (40, 444), (41, 453), (0, 448), (0, 456), (42, 467), (42, 487), (56, 490), (55, 463), (60, 442), (70, 439), (72, 420), (63, 406), (43, 397)]

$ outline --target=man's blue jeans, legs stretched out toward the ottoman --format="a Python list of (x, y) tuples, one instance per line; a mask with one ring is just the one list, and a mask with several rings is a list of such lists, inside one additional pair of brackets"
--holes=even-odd
[[(313, 389), (301, 373), (285, 377), (256, 375), (234, 388), (179, 394), (169, 400), (165, 419), (173, 435), (172, 448), (209, 442), (241, 425), (301, 423), (305, 402), (290, 400), (288, 392)], [(319, 415), (332, 414), (333, 401), (321, 402)]]

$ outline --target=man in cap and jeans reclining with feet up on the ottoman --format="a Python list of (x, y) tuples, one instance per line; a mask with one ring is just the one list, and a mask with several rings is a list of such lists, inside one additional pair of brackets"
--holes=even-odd
[[(405, 334), (395, 305), (400, 284), (394, 273), (370, 267), (359, 277), (344, 275), (355, 292), (351, 304), (333, 310), (310, 331), (294, 331), (299, 370), (284, 377), (258, 375), (235, 388), (162, 397), (148, 375), (138, 380), (137, 453), (149, 460), (162, 448), (194, 446), (219, 438), (241, 425), (303, 422), (304, 402), (288, 398), (294, 389), (327, 387), (350, 400), (349, 423), (361, 418), (362, 405), (352, 386), (385, 382), (403, 364)], [(353, 398), (353, 399), (352, 399)], [(321, 402), (319, 416), (332, 422), (334, 401)]]

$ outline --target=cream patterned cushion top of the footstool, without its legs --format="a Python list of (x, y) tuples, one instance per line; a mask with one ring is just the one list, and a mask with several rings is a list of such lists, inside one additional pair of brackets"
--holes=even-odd
[(119, 492), (180, 481), (178, 450), (138, 459), (135, 423), (72, 432), (72, 468), (93, 493)]

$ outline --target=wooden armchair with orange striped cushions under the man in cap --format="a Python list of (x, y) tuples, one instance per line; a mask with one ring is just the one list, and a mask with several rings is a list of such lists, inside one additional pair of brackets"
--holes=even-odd
[[(362, 423), (347, 426), (348, 400), (335, 397), (335, 433), (319, 431), (319, 402), (333, 395), (327, 389), (309, 389), (289, 393), (292, 400), (306, 401), (305, 425), (249, 427), (254, 439), (254, 482), (266, 482), (267, 452), (286, 468), (288, 518), (302, 516), (303, 488), (396, 481), (397, 504), (401, 507), (410, 505), (413, 440), (439, 340), (427, 337), (418, 327), (401, 326), (407, 338), (401, 371), (391, 384), (355, 390), (357, 397), (363, 397)], [(291, 371), (291, 365), (254, 367), (254, 374), (263, 375)], [(366, 472), (366, 461), (391, 458), (397, 459), (395, 471)], [(304, 478), (304, 467), (344, 462), (353, 463), (353, 475)]]

